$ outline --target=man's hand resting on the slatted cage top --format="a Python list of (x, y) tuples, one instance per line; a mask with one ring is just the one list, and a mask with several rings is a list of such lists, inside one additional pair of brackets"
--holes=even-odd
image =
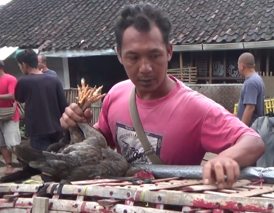
[[(225, 180), (226, 175), (226, 180)], [(239, 164), (228, 157), (215, 157), (207, 161), (203, 166), (204, 184), (213, 184), (217, 182), (218, 188), (232, 187), (240, 176)]]

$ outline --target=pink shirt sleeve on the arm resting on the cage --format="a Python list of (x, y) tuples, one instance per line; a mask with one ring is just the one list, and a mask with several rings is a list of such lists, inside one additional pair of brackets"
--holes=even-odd
[(217, 103), (212, 103), (201, 126), (201, 143), (206, 152), (219, 154), (243, 135), (260, 136)]

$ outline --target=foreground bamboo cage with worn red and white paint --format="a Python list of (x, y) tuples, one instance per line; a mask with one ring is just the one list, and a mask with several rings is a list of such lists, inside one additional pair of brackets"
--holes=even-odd
[(166, 178), (127, 182), (86, 180), (60, 189), (51, 183), (0, 184), (0, 213), (244, 213), (274, 212), (274, 187), (239, 180), (230, 189), (203, 185), (202, 180)]

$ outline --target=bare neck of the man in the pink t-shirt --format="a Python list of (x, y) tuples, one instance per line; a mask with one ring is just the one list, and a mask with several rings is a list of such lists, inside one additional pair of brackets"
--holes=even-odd
[(152, 92), (139, 92), (136, 89), (136, 93), (143, 101), (153, 101), (165, 97), (175, 86), (176, 82), (169, 78), (168, 75), (166, 75), (163, 83), (156, 90)]

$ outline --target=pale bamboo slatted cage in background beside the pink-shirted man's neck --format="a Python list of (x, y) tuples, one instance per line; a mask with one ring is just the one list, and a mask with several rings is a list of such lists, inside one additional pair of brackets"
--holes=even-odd
[(196, 67), (183, 67), (178, 69), (169, 69), (167, 70), (169, 75), (174, 76), (178, 80), (187, 84), (196, 84), (196, 75), (197, 68)]

